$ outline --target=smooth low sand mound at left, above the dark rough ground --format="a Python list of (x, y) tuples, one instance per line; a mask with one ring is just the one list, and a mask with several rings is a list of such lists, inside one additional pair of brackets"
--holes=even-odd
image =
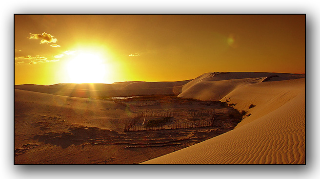
[[(32, 120), (45, 115), (60, 118), (65, 123), (122, 131), (123, 121), (131, 117), (124, 109), (123, 106), (107, 100), (15, 90), (15, 122), (26, 121), (25, 115), (30, 116)], [(106, 125), (107, 121), (113, 121), (113, 125)]]

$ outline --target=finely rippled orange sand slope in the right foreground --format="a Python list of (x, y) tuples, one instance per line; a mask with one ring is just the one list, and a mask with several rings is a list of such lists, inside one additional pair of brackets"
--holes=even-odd
[[(305, 163), (304, 86), (299, 90), (279, 108), (258, 118), (250, 116), (247, 123), (230, 132), (143, 163)], [(259, 116), (260, 109), (254, 110), (253, 115)]]

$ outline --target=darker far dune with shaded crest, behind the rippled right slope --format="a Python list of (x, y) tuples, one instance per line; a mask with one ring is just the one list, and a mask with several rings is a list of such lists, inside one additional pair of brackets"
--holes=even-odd
[(303, 75), (283, 73), (204, 73), (182, 87), (179, 97), (219, 101), (231, 91), (262, 82), (268, 76), (278, 75), (269, 81), (303, 78)]

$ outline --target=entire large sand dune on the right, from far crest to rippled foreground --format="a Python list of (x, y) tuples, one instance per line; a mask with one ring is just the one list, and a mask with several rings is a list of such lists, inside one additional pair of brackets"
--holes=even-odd
[[(264, 81), (271, 75), (279, 77)], [(230, 132), (144, 163), (305, 163), (304, 82), (297, 74), (201, 75), (179, 96), (234, 103), (251, 115)]]

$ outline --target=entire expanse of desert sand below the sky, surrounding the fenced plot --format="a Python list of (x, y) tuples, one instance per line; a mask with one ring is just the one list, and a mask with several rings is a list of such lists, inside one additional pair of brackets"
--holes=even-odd
[[(235, 128), (228, 130), (202, 128), (127, 134), (123, 132), (123, 124), (137, 110), (217, 106), (201, 101), (178, 103), (177, 99), (172, 103), (159, 101), (158, 107), (138, 109), (100, 99), (151, 94), (226, 102), (247, 114)], [(251, 104), (254, 107), (249, 109)], [(304, 159), (304, 74), (205, 73), (180, 82), (15, 86), (16, 164), (143, 161), (263, 164), (305, 163)]]

